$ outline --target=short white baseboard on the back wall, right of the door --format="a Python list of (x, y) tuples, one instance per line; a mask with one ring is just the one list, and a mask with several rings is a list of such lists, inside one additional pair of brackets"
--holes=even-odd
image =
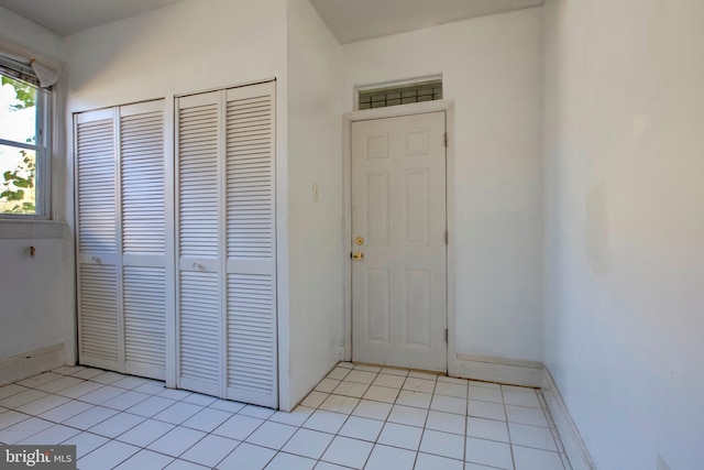
[(453, 375), (463, 379), (498, 382), (510, 385), (542, 385), (542, 362), (493, 358), (476, 354), (457, 354)]

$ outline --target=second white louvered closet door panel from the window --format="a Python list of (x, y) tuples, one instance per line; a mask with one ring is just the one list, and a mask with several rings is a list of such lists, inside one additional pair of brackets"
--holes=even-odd
[(124, 371), (165, 379), (164, 101), (119, 109)]

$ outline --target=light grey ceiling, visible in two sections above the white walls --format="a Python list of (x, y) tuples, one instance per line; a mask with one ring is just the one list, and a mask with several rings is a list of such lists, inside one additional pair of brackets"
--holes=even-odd
[[(182, 0), (0, 0), (59, 35), (88, 30)], [(230, 0), (237, 1), (237, 0)], [(542, 4), (543, 0), (310, 0), (342, 44), (468, 18)]]

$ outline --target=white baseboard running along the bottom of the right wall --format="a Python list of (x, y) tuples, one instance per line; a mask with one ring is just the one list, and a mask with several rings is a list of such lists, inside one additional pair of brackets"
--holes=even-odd
[(594, 461), (590, 456), (590, 451), (582, 439), (580, 429), (572, 420), (570, 411), (562, 401), (562, 395), (552, 380), (552, 375), (548, 368), (544, 368), (542, 381), (542, 396), (546, 398), (548, 409), (552, 415), (560, 438), (562, 439), (562, 446), (570, 459), (572, 470), (596, 470)]

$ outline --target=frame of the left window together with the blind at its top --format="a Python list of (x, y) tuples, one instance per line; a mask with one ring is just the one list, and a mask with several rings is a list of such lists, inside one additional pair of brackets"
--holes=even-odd
[[(6, 70), (6, 73), (3, 73)], [(35, 152), (36, 192), (34, 214), (0, 212), (0, 220), (31, 221), (52, 219), (52, 88), (38, 85), (38, 78), (32, 68), (0, 52), (0, 75), (22, 81), (36, 89), (35, 142), (19, 142), (0, 138), (0, 145)], [(0, 179), (2, 175), (0, 175)]]

